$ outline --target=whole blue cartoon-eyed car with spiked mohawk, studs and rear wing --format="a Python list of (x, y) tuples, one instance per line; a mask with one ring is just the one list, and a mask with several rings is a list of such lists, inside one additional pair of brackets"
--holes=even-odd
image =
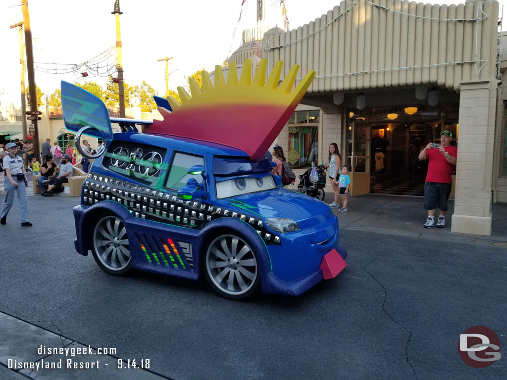
[[(178, 88), (182, 104), (156, 97), (164, 120), (153, 122), (110, 119), (100, 99), (61, 83), (65, 126), (94, 159), (74, 208), (80, 254), (111, 275), (204, 277), (235, 300), (299, 295), (345, 268), (329, 206), (284, 189), (262, 154), (315, 73), (291, 91), (297, 67), (278, 86), (281, 62), (267, 82), (265, 60), (253, 80), (249, 65), (238, 80), (232, 62), (227, 81), (217, 66), (214, 87), (203, 71), (202, 90)], [(83, 134), (103, 149), (81, 151)]]

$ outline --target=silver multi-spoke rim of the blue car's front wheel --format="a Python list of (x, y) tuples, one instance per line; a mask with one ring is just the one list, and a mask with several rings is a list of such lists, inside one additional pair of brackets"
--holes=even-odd
[(222, 235), (211, 242), (206, 252), (206, 270), (213, 285), (230, 295), (246, 293), (259, 276), (252, 249), (234, 235)]

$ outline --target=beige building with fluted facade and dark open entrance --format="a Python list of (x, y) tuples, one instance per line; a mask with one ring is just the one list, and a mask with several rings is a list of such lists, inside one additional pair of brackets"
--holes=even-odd
[[(301, 66), (301, 78), (317, 72), (278, 137), (284, 150), (299, 149), (293, 167), (327, 162), (336, 142), (353, 196), (411, 195), (423, 186), (426, 170), (414, 155), (449, 129), (458, 148), (451, 229), (490, 235), (491, 203), (507, 202), (507, 94), (501, 86), (507, 63), (500, 63), (498, 21), (492, 0), (356, 0), (297, 29), (264, 33), (268, 71), (283, 60), (285, 74), (293, 64)], [(230, 60), (241, 65), (257, 60), (257, 53), (243, 35)], [(318, 120), (316, 126), (310, 120)], [(315, 141), (307, 137), (312, 128)], [(308, 142), (317, 147), (316, 160)], [(298, 154), (303, 159), (295, 160)]]

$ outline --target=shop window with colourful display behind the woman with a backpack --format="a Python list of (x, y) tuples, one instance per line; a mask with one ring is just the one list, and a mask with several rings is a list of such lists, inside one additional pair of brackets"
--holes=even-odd
[[(320, 111), (297, 111), (289, 119), (288, 150), (285, 159), (294, 169), (307, 169), (317, 163), (317, 135)], [(292, 123), (291, 123), (292, 121)]]

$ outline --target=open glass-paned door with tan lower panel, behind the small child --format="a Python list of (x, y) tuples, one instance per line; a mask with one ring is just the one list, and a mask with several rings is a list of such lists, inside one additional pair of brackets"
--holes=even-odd
[(347, 166), (350, 168), (350, 191), (354, 196), (370, 194), (371, 134), (370, 124), (349, 124)]

